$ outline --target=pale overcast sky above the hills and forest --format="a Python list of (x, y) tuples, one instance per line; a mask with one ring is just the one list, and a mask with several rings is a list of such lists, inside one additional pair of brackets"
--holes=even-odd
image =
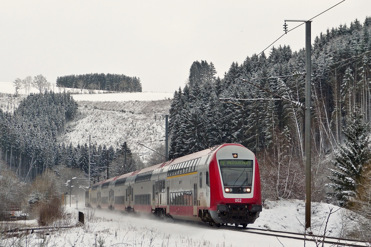
[[(193, 61), (212, 61), (223, 77), (233, 61), (277, 39), (284, 19), (309, 19), (339, 1), (0, 0), (0, 81), (119, 73), (140, 77), (143, 91), (171, 92), (184, 85)], [(312, 40), (370, 15), (371, 0), (346, 0), (313, 20)], [(275, 46), (304, 47), (304, 31)]]

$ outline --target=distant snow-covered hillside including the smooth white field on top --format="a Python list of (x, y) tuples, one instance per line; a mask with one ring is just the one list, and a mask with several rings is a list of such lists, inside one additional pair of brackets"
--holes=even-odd
[[(14, 91), (12, 83), (0, 82), (0, 108), (3, 111), (12, 112), (25, 97), (24, 90), (19, 91), (18, 97), (13, 96)], [(87, 93), (73, 94), (72, 97), (78, 101), (79, 113), (60, 134), (61, 142), (75, 146), (88, 143), (90, 134), (92, 143), (117, 148), (118, 141), (128, 141), (132, 151), (143, 154), (150, 150), (137, 142), (164, 140), (165, 121), (155, 114), (168, 114), (173, 93)], [(163, 142), (147, 143), (146, 146), (153, 149)], [(148, 155), (140, 157), (145, 161)]]

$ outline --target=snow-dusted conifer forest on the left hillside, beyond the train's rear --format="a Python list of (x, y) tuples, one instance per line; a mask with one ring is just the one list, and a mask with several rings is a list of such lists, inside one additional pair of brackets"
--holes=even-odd
[[(69, 93), (52, 91), (31, 93), (13, 113), (0, 109), (0, 161), (5, 161), (22, 182), (33, 181), (47, 168), (57, 174), (63, 167), (79, 168), (87, 174), (88, 140), (84, 144), (73, 146), (71, 143), (60, 143), (57, 139), (66, 122), (75, 117), (76, 111), (77, 103)], [(105, 166), (107, 162), (106, 149), (109, 150), (109, 161), (123, 155), (122, 146), (115, 149), (112, 146), (92, 144), (91, 156), (101, 155), (101, 166)], [(131, 164), (131, 151), (129, 148), (127, 150), (131, 171), (135, 167)], [(122, 170), (112, 168), (112, 176), (123, 173)], [(104, 170), (100, 169), (98, 172)]]

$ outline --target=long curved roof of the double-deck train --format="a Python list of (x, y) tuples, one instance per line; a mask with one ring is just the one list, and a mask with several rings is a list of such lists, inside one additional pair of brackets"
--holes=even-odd
[(137, 171), (133, 171), (131, 173), (126, 173), (126, 174), (122, 174), (120, 176), (109, 178), (108, 180), (104, 180), (102, 182), (99, 182), (99, 184), (110, 182), (110, 181), (114, 181), (114, 180), (116, 180), (118, 178), (131, 177), (131, 176), (134, 176), (136, 174), (144, 173), (144, 172), (147, 172), (147, 171), (154, 171), (157, 168), (161, 168), (161, 167), (165, 167), (165, 166), (170, 166), (171, 164), (177, 164), (177, 163), (181, 163), (181, 162), (187, 161), (187, 160), (193, 160), (194, 158), (200, 158), (200, 157), (203, 157), (203, 156), (205, 156), (205, 155), (207, 155), (209, 153), (213, 153), (214, 151), (218, 150), (221, 147), (229, 146), (229, 145), (242, 146), (241, 144), (235, 144), (235, 143), (221, 144), (221, 145), (218, 145), (218, 146), (215, 146), (215, 147), (207, 148), (207, 149), (202, 150), (202, 151), (198, 151), (198, 152), (193, 153), (193, 154), (188, 154), (188, 155), (185, 155), (185, 156), (176, 158), (174, 160), (169, 160), (169, 161), (164, 162), (164, 163), (161, 163), (161, 164), (157, 164), (157, 165), (146, 167), (146, 168), (143, 168), (143, 169), (140, 169), (140, 170), (137, 170)]

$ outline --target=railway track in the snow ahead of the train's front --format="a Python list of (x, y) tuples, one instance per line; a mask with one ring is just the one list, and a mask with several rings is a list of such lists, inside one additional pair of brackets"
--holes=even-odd
[[(215, 228), (215, 227), (213, 227)], [(242, 228), (242, 227), (234, 227), (234, 226), (221, 226), (221, 229), (227, 229), (231, 231), (243, 231), (246, 233), (253, 233), (253, 234), (260, 234), (265, 236), (273, 236), (273, 237), (282, 237), (282, 238), (292, 238), (298, 239), (303, 241), (312, 241), (316, 242), (317, 246), (322, 245), (322, 243), (326, 244), (333, 244), (333, 246), (352, 246), (352, 247), (371, 247), (371, 242), (368, 241), (359, 241), (354, 239), (347, 239), (347, 238), (336, 238), (336, 237), (324, 237), (319, 235), (304, 235), (302, 233), (292, 233), (286, 231), (275, 231), (275, 230), (267, 230), (267, 229), (259, 229), (259, 228)]]

